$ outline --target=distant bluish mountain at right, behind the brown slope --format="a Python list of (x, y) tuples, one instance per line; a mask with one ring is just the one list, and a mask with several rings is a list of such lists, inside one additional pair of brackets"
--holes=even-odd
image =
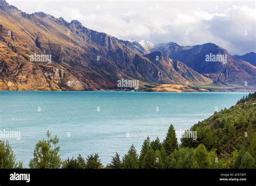
[[(151, 52), (161, 51), (171, 59), (179, 60), (206, 77), (227, 85), (256, 85), (256, 67), (234, 58), (226, 49), (212, 43), (180, 46), (174, 42), (159, 44)], [(222, 55), (226, 61), (208, 62), (206, 56)]]

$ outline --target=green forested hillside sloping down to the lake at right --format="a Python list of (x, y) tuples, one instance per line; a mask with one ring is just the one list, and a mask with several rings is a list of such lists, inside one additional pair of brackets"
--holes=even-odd
[[(239, 102), (230, 109), (214, 113), (213, 116), (192, 126), (191, 131), (197, 131), (197, 140), (183, 138), (181, 147), (196, 148), (199, 144), (204, 144), (207, 151), (217, 149), (219, 159), (217, 167), (223, 163), (221, 166), (224, 168), (227, 166), (239, 168), (242, 155), (246, 151), (249, 153), (253, 151), (250, 150), (250, 145), (256, 136), (255, 97), (256, 93), (250, 94), (244, 98), (246, 100), (244, 103)], [(235, 150), (237, 155), (233, 158), (231, 154)]]

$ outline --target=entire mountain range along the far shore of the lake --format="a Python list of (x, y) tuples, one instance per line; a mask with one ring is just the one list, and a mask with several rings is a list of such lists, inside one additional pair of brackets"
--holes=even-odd
[[(206, 62), (224, 54), (227, 63)], [(31, 55), (50, 55), (33, 61)], [(256, 85), (256, 67), (215, 44), (120, 40), (44, 12), (25, 13), (0, 0), (0, 90), (115, 89), (117, 81), (160, 84)]]

